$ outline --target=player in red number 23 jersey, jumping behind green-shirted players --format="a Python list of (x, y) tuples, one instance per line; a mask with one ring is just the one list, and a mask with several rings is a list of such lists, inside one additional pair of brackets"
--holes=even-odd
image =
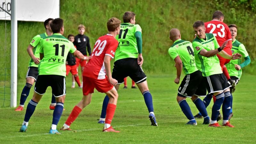
[[(219, 45), (222, 45), (225, 41), (228, 41), (227, 46), (223, 49), (225, 52), (227, 52), (229, 55), (232, 55), (231, 48), (232, 48), (232, 37), (231, 32), (228, 28), (228, 25), (223, 22), (224, 20), (224, 14), (221, 11), (215, 11), (212, 15), (212, 20), (205, 22), (205, 33), (212, 33)], [(235, 86), (235, 81), (230, 79), (230, 76), (228, 74), (228, 70), (225, 66), (230, 60), (225, 59), (218, 55), (218, 58), (220, 60), (220, 66), (222, 68), (222, 71), (224, 75), (227, 77), (228, 81), (232, 84), (232, 86)]]

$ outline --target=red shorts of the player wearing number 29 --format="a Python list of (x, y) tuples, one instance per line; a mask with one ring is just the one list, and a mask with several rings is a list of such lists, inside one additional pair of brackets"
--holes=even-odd
[(105, 79), (95, 79), (87, 76), (83, 76), (83, 94), (88, 95), (89, 93), (94, 92), (94, 88), (96, 88), (99, 92), (108, 92), (114, 86), (109, 83), (108, 78), (106, 76)]

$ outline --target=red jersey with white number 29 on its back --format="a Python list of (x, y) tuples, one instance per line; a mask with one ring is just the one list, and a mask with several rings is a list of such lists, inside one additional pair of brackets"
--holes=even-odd
[(106, 71), (104, 66), (105, 55), (114, 58), (118, 41), (112, 35), (100, 36), (96, 41), (93, 51), (92, 59), (85, 65), (83, 76), (104, 79), (106, 78)]

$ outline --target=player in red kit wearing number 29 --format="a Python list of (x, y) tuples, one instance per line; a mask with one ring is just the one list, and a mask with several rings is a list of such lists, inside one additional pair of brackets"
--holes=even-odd
[(115, 37), (119, 35), (120, 24), (121, 21), (117, 18), (109, 19), (107, 22), (108, 34), (99, 37), (96, 41), (91, 54), (92, 59), (85, 65), (83, 71), (83, 99), (73, 108), (61, 130), (70, 130), (70, 125), (75, 121), (82, 109), (91, 102), (92, 93), (96, 88), (96, 90), (106, 93), (109, 97), (103, 132), (119, 132), (110, 125), (118, 98), (114, 87), (117, 84), (117, 80), (112, 78), (110, 60), (114, 58), (118, 46), (118, 41)]

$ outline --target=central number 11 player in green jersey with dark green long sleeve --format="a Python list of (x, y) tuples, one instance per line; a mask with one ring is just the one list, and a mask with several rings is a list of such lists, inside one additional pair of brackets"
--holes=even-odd
[[(124, 78), (130, 76), (144, 96), (151, 125), (157, 126), (153, 100), (146, 80), (147, 76), (141, 68), (143, 64), (142, 31), (140, 25), (135, 24), (134, 12), (125, 12), (123, 20), (124, 23), (121, 24), (120, 33), (116, 36), (119, 44), (115, 53), (115, 63), (112, 73), (112, 77), (118, 81), (118, 84), (115, 87), (116, 90), (118, 90), (120, 84), (124, 83)], [(98, 123), (105, 122), (107, 105), (108, 96), (106, 96), (103, 101), (101, 116)]]

